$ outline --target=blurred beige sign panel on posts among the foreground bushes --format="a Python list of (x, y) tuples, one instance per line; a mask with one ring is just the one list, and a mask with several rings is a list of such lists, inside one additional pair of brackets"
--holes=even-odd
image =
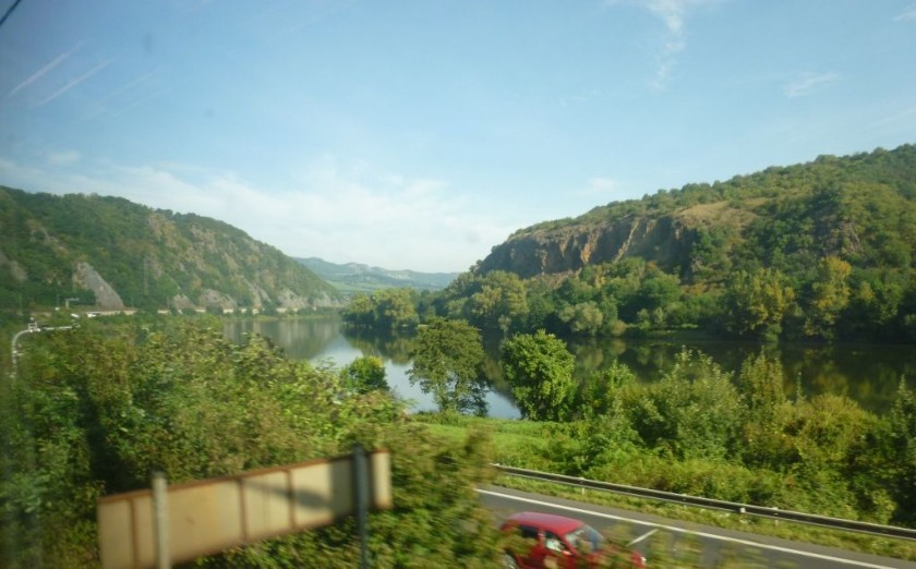
[(164, 569), (357, 516), (367, 567), (367, 511), (391, 507), (390, 455), (366, 452), (166, 484), (98, 500), (103, 569)]

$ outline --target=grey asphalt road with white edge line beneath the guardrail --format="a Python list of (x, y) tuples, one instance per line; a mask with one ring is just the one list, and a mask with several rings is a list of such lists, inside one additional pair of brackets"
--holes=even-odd
[[(664, 544), (663, 552), (684, 558), (696, 543), (701, 545), (702, 558), (696, 567), (714, 567), (719, 561), (740, 559), (732, 567), (779, 569), (916, 569), (916, 562), (888, 557), (846, 552), (806, 543), (790, 542), (751, 533), (723, 530), (696, 523), (677, 522), (629, 510), (617, 510), (591, 504), (519, 492), (498, 486), (478, 489), (482, 504), (502, 521), (516, 511), (532, 510), (558, 513), (580, 519), (595, 529), (626, 529), (631, 546), (652, 555), (649, 544)], [(916, 547), (916, 545), (914, 545)]]

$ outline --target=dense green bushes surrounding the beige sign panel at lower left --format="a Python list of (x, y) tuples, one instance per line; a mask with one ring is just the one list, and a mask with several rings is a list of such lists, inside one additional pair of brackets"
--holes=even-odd
[[(101, 328), (105, 326), (105, 328)], [(497, 535), (480, 509), (486, 441), (434, 437), (378, 390), (284, 358), (264, 339), (227, 341), (194, 322), (93, 323), (28, 338), (0, 404), (0, 565), (98, 566), (95, 503), (170, 482), (349, 452), (393, 455), (395, 508), (370, 518), (378, 567), (492, 567)], [(3, 370), (4, 379), (8, 370)], [(352, 521), (256, 543), (212, 567), (355, 567)]]

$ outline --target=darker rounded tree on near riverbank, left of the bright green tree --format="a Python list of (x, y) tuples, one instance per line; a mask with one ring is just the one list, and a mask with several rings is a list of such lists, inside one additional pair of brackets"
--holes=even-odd
[(418, 331), (412, 356), (410, 383), (432, 394), (439, 411), (486, 414), (480, 330), (465, 320), (433, 319)]

